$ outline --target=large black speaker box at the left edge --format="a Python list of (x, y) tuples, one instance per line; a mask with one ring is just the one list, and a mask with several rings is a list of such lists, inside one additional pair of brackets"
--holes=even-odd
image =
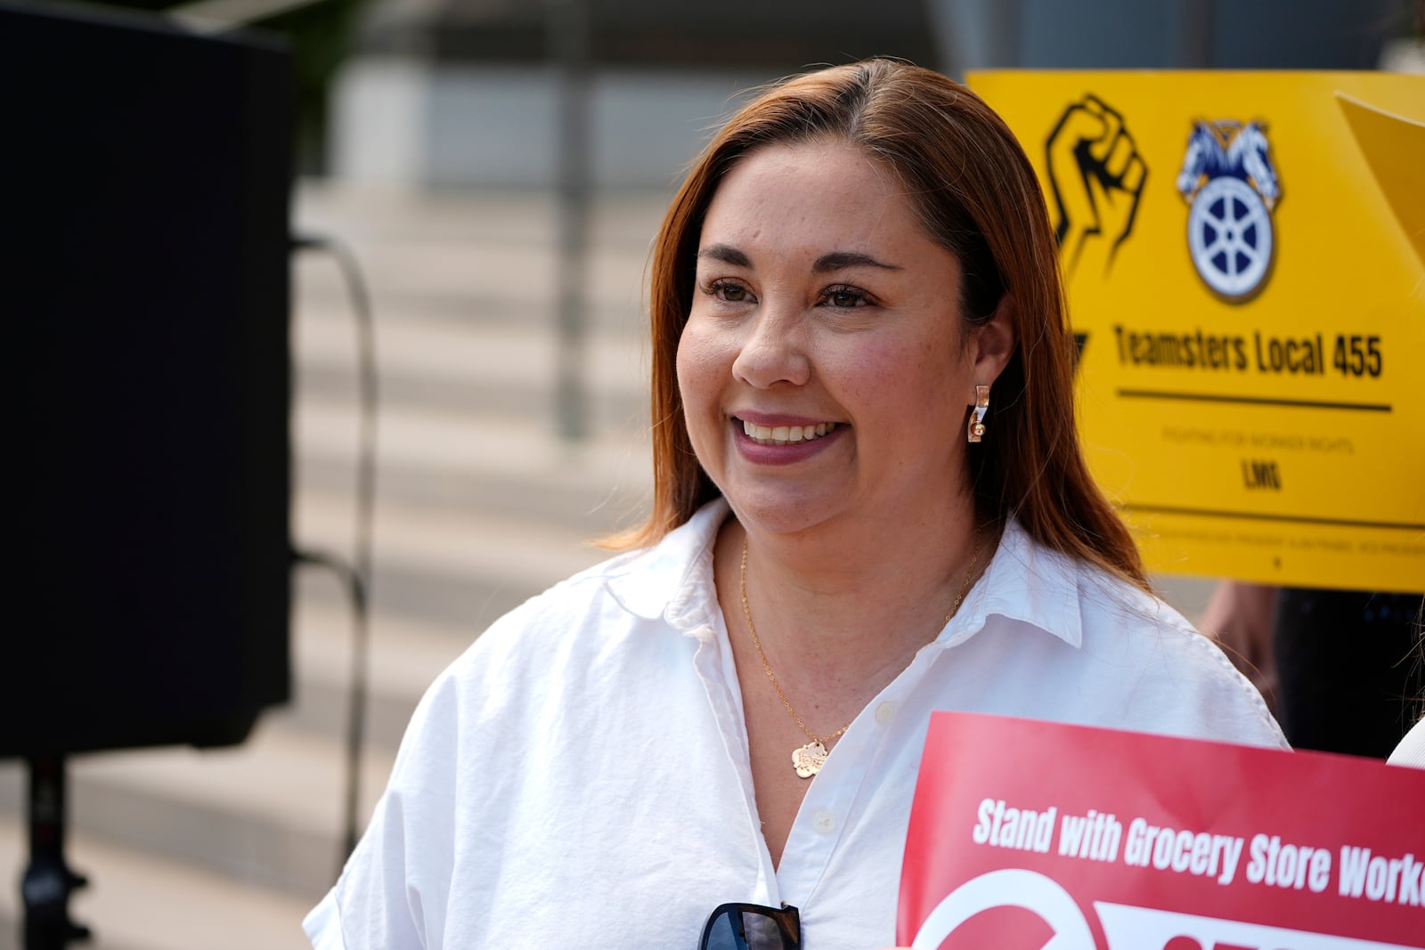
[(289, 71), (0, 0), (0, 756), (235, 743), (289, 696)]

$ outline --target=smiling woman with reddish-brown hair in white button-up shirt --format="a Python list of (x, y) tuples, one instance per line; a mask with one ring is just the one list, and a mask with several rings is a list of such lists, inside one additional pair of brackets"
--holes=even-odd
[(1084, 469), (1043, 197), (963, 87), (767, 91), (651, 310), (648, 523), (432, 687), (316, 946), (691, 947), (725, 902), (885, 946), (932, 709), (1282, 745)]

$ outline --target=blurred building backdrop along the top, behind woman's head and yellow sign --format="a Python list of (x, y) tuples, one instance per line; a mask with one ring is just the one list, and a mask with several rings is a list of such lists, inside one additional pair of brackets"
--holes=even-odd
[(547, 188), (573, 142), (596, 188), (670, 188), (741, 91), (815, 64), (1374, 68), (1409, 17), (1408, 0), (373, 0), (331, 169)]

